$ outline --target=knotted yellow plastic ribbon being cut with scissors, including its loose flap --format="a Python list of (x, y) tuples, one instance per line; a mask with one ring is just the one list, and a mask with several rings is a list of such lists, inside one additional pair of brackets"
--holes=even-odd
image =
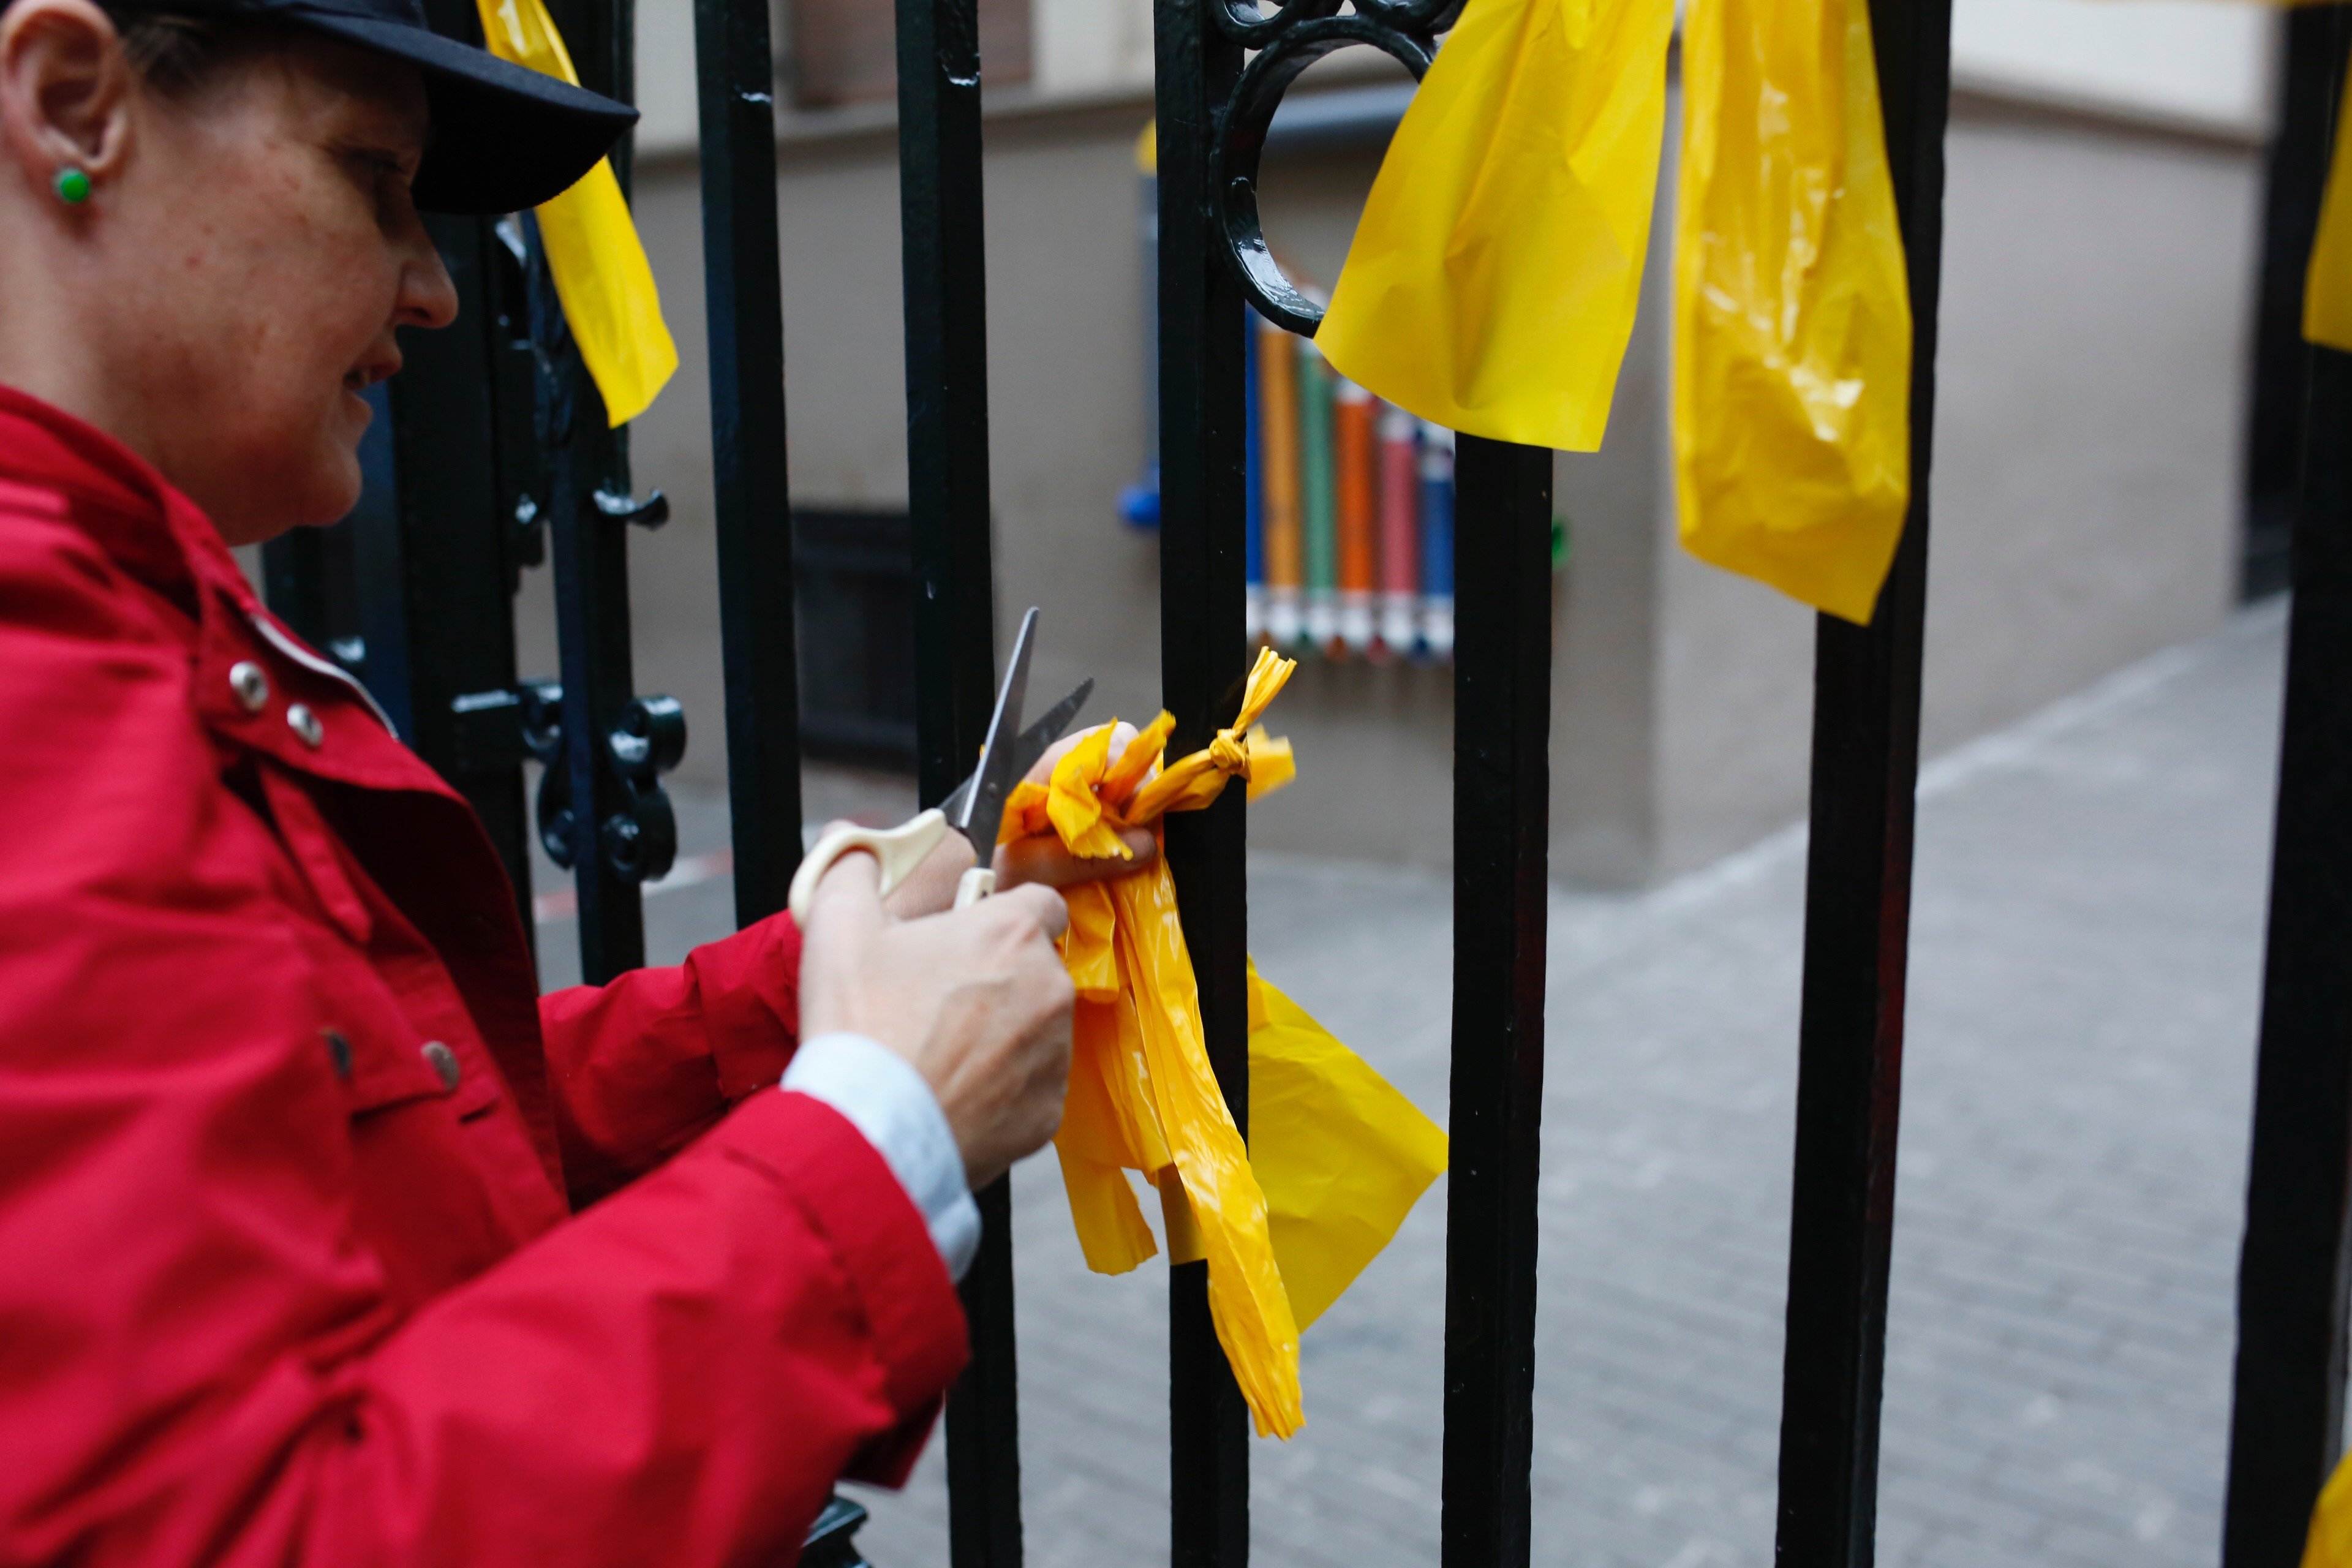
[[(1117, 757), (1108, 724), (1087, 733), (1047, 783), (1014, 790), (1002, 837), (1054, 832), (1077, 856), (1124, 858), (1122, 827), (1197, 811), (1235, 778), (1251, 799), (1289, 783), (1291, 748), (1258, 717), (1291, 670), (1294, 661), (1263, 649), (1232, 726), (1164, 769), (1176, 724), (1167, 712)], [(1087, 1265), (1124, 1274), (1160, 1251), (1127, 1180), (1138, 1171), (1160, 1190), (1171, 1258), (1209, 1262), (1209, 1314), (1258, 1434), (1291, 1436), (1305, 1422), (1303, 1321), (1388, 1244), (1444, 1168), (1444, 1133), (1251, 976), (1254, 1168), (1209, 1067), (1167, 860), (1065, 889), (1065, 898), (1063, 961), (1077, 1013), (1054, 1147)]]

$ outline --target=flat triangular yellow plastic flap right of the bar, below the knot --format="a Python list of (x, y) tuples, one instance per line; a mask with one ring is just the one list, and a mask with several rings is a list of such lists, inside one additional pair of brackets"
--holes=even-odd
[(1251, 966), (1249, 1164), (1305, 1333), (1444, 1173), (1446, 1135)]

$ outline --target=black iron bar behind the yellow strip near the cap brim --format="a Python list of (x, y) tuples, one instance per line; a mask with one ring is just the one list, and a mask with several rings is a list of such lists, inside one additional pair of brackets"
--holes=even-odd
[[(630, 0), (555, 0), (581, 85), (628, 99), (635, 75)], [(612, 150), (621, 188), (630, 143)], [(602, 825), (626, 813), (609, 736), (633, 701), (628, 635), (628, 529), (597, 508), (597, 491), (628, 496), (628, 440), (607, 425), (604, 400), (576, 350), (557, 371), (560, 400), (550, 451), (548, 536), (555, 552), (555, 632), (562, 649), (562, 724), (572, 785), (572, 882), (579, 889), (581, 978), (602, 985), (644, 964), (644, 900), (602, 842)]]

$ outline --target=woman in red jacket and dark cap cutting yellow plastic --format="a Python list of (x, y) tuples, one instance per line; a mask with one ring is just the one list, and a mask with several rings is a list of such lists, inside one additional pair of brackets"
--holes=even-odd
[(0, 1561), (786, 1561), (964, 1359), (1061, 900), (898, 919), (962, 867), (884, 912), (851, 856), (804, 950), (536, 999), (480, 827), (223, 545), (355, 501), (454, 315), (419, 202), (628, 110), (414, 0), (111, 2), (0, 9)]

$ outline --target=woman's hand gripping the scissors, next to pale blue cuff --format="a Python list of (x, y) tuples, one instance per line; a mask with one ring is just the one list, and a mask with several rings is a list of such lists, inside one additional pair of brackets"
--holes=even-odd
[(938, 1095), (967, 1180), (985, 1187), (1061, 1126), (1070, 976), (1054, 938), (1070, 917), (1051, 889), (1028, 886), (894, 919), (877, 879), (875, 858), (851, 853), (816, 884), (800, 957), (802, 1037), (847, 1030), (913, 1063)]

